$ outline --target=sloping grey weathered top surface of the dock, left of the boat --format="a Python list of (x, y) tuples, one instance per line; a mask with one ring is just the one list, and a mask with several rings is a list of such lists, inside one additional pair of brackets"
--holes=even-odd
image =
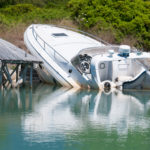
[(42, 62), (35, 56), (25, 52), (15, 45), (0, 39), (0, 60), (1, 61), (21, 61), (21, 62)]

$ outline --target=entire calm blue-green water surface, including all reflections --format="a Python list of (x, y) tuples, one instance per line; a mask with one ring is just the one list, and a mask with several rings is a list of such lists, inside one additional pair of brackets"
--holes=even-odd
[(150, 92), (1, 90), (0, 150), (150, 150)]

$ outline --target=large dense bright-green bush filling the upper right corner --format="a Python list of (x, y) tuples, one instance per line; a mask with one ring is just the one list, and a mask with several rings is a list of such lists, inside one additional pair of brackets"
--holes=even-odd
[(83, 28), (113, 31), (117, 43), (132, 36), (136, 46), (150, 50), (149, 0), (70, 0), (68, 6)]

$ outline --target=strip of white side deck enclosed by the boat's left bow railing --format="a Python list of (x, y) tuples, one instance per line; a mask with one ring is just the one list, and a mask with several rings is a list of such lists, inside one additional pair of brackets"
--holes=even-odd
[[(42, 47), (42, 49), (54, 60), (57, 60), (59, 62), (64, 62), (66, 64), (69, 64), (69, 61), (66, 60), (62, 55), (60, 55), (52, 46), (50, 46), (47, 42), (45, 42), (40, 35), (36, 32), (34, 27), (32, 26), (32, 33), (35, 38), (35, 40), (38, 42), (38, 44)], [(58, 59), (59, 58), (59, 59)]]

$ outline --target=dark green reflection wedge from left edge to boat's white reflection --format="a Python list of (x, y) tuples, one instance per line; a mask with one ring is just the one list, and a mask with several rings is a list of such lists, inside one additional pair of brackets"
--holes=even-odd
[[(28, 86), (1, 89), (0, 90), (0, 113), (17, 113), (32, 111), (34, 104), (44, 98), (47, 93), (52, 93), (58, 87), (49, 87), (39, 84), (33, 88)], [(41, 94), (42, 93), (42, 94)]]

